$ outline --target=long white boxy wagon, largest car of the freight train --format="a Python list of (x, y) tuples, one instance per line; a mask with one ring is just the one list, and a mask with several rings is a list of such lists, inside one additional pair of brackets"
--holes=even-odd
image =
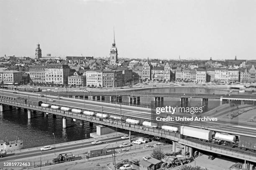
[(212, 139), (211, 130), (192, 128), (189, 126), (181, 126), (180, 134), (184, 136), (192, 137), (192, 138), (207, 140), (207, 141), (210, 141)]

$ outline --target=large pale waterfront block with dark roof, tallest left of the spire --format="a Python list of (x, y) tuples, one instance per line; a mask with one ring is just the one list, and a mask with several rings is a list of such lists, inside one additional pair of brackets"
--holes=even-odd
[(49, 64), (45, 68), (45, 81), (52, 84), (68, 84), (70, 68), (68, 65)]

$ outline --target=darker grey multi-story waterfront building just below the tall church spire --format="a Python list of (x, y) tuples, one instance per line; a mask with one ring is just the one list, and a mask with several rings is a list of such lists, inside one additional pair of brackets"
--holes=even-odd
[(103, 87), (122, 86), (122, 71), (121, 70), (103, 70), (102, 85)]

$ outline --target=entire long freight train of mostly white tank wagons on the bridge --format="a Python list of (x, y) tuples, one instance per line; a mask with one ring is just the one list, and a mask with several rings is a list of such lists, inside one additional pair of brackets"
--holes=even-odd
[(108, 115), (108, 114), (103, 114), (99, 112), (95, 114), (95, 112), (87, 111), (87, 110), (84, 110), (84, 112), (82, 112), (82, 110), (80, 109), (74, 109), (69, 107), (59, 108), (59, 106), (49, 105), (46, 103), (42, 103), (41, 107), (51, 107), (51, 109), (58, 109), (58, 110), (68, 111), (68, 112), (71, 111), (77, 114), (84, 114), (84, 115), (89, 115), (89, 116), (94, 116), (94, 117), (104, 118), (104, 119), (112, 119), (112, 120), (117, 120), (121, 122), (126, 122), (132, 125), (142, 125), (147, 128), (159, 128), (159, 129), (166, 130), (173, 133), (180, 132), (180, 134), (182, 135), (182, 138), (187, 138), (188, 140), (201, 140), (204, 142), (215, 143), (217, 145), (227, 145), (232, 148), (238, 147), (243, 150), (251, 150), (253, 152), (256, 152), (256, 138), (247, 137), (243, 135), (232, 135), (227, 133), (214, 132), (212, 130), (193, 128), (189, 126), (180, 126), (180, 130), (179, 130), (178, 127), (167, 126), (167, 125), (159, 126), (158, 123), (156, 122), (135, 120), (131, 118), (125, 119), (124, 117), (120, 117), (116, 115)]

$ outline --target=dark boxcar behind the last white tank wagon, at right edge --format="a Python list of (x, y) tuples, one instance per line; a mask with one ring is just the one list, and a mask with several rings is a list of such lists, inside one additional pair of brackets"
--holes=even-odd
[(256, 138), (249, 136), (238, 136), (238, 146), (243, 150), (251, 150), (256, 152)]

